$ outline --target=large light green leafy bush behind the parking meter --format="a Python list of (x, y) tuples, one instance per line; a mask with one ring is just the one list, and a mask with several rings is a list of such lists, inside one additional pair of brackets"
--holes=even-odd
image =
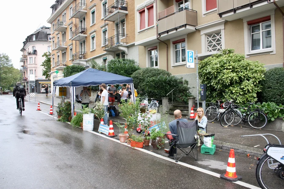
[(209, 102), (225, 97), (234, 98), (237, 103), (255, 102), (265, 73), (263, 64), (246, 60), (233, 49), (224, 49), (200, 61), (198, 69), (201, 83), (207, 85)]

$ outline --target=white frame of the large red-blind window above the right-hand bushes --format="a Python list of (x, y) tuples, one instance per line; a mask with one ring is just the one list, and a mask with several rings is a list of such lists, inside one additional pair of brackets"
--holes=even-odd
[[(256, 55), (264, 55), (264, 54), (276, 54), (276, 45), (275, 45), (275, 19), (274, 19), (274, 14), (275, 10), (270, 10), (266, 12), (262, 12), (257, 15), (253, 16), (248, 16), (243, 18), (244, 22), (244, 39), (245, 39), (245, 57), (249, 58), (249, 56), (256, 56)], [(262, 18), (265, 16), (270, 16), (270, 21), (271, 21), (271, 48), (264, 48), (264, 49), (259, 49), (259, 50), (253, 50), (251, 51), (250, 49), (250, 26), (247, 24), (248, 21), (250, 20), (255, 20), (258, 18)], [(262, 40), (262, 39), (261, 39)]]

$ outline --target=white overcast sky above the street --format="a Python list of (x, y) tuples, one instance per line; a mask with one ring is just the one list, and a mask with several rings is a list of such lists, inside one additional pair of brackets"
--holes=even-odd
[(55, 0), (16, 0), (10, 1), (7, 6), (2, 6), (1, 20), (1, 44), (0, 52), (6, 53), (15, 68), (20, 69), (23, 42), (26, 37), (35, 32), (41, 26), (49, 26), (46, 20), (51, 15), (51, 5)]

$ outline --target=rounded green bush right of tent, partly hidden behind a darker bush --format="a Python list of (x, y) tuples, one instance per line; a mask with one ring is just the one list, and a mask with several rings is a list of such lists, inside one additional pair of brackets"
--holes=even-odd
[(148, 68), (142, 68), (140, 70), (137, 70), (136, 72), (133, 72), (131, 77), (133, 79), (134, 87), (137, 89), (137, 91), (142, 91), (142, 95), (144, 95), (145, 93), (143, 92), (142, 85), (144, 84), (144, 81), (147, 78), (157, 77), (157, 76), (166, 77), (166, 76), (171, 76), (171, 75), (172, 74), (167, 72), (166, 70), (148, 67)]

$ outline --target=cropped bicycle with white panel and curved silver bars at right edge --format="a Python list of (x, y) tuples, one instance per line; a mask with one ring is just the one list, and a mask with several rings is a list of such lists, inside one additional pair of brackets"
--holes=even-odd
[[(244, 135), (241, 137), (262, 136), (273, 134), (255, 134)], [(279, 189), (284, 188), (284, 145), (281, 144), (278, 137), (276, 139), (279, 144), (270, 144), (266, 137), (267, 145), (263, 149), (263, 154), (257, 158), (256, 179), (262, 189)]]

